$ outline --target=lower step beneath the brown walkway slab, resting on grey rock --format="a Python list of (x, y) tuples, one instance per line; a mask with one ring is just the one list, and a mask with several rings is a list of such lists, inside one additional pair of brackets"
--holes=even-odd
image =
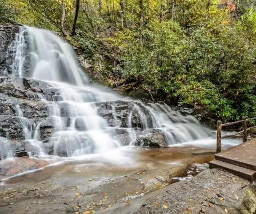
[(243, 168), (237, 165), (233, 165), (233, 164), (218, 161), (218, 160), (213, 160), (209, 162), (209, 167), (224, 169), (228, 172), (231, 172), (249, 181), (254, 181), (256, 178), (256, 171), (254, 170)]

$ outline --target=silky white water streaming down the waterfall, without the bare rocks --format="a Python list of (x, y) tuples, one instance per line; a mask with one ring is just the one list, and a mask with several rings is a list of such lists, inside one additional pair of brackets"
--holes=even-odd
[[(111, 162), (127, 162), (128, 157), (125, 157), (122, 153), (123, 150), (120, 150), (123, 145), (122, 139), (114, 131), (115, 128), (121, 128), (116, 117), (115, 107), (111, 106), (115, 126), (110, 127), (104, 118), (98, 116), (98, 107), (95, 105), (95, 102), (124, 100), (124, 98), (90, 84), (76, 61), (72, 47), (50, 31), (34, 27), (21, 28), (12, 47), (16, 49), (13, 75), (20, 77), (25, 75), (23, 73), (24, 62), (29, 58), (31, 70), (29, 77), (47, 81), (52, 87), (59, 89), (56, 96), (61, 97), (61, 101), (48, 102), (50, 120), (55, 128), (55, 132), (48, 142), (53, 147), (51, 154), (45, 150), (45, 143), (40, 139), (41, 124), (37, 124), (35, 127), (35, 124), (31, 124), (23, 116), (21, 108), (16, 106), (16, 114), (20, 117), (25, 140), (40, 151), (36, 157), (59, 159), (58, 156), (67, 156), (85, 160), (89, 157), (96, 157), (90, 155), (94, 153), (97, 154), (97, 157), (101, 154), (101, 159)], [(35, 94), (35, 98), (47, 102), (42, 94)], [(62, 106), (65, 106), (66, 109), (65, 117), (62, 115)], [(142, 119), (143, 131), (139, 135), (151, 133), (142, 107), (145, 107), (150, 113), (153, 128), (166, 133), (166, 139), (170, 146), (192, 145), (215, 148), (214, 132), (200, 125), (194, 117), (185, 117), (167, 105), (142, 104), (140, 102), (134, 104), (128, 116), (128, 127), (125, 128), (130, 146), (138, 137), (136, 135), (138, 131), (134, 129), (136, 127), (132, 127), (134, 112), (137, 112)], [(67, 117), (70, 118), (68, 124)], [(77, 123), (82, 129), (77, 127)], [(237, 143), (228, 141), (230, 146)], [(12, 157), (7, 144), (3, 149), (8, 157)], [(70, 160), (70, 158), (65, 159)]]

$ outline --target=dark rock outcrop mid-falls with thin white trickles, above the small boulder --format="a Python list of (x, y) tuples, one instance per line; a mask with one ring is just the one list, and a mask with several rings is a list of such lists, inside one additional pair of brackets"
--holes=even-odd
[(152, 117), (147, 108), (134, 101), (112, 101), (96, 103), (98, 115), (106, 119), (110, 126), (135, 129), (152, 128)]

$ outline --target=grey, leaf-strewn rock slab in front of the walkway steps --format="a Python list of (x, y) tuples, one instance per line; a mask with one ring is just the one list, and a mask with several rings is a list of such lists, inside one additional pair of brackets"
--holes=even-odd
[(102, 213), (254, 213), (256, 187), (229, 172), (209, 169), (129, 204)]

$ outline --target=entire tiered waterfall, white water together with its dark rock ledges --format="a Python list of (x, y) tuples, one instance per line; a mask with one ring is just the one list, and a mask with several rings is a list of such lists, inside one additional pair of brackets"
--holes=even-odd
[(0, 25), (0, 159), (86, 157), (121, 146), (165, 147), (212, 132), (165, 104), (91, 84), (71, 46), (34, 27)]

